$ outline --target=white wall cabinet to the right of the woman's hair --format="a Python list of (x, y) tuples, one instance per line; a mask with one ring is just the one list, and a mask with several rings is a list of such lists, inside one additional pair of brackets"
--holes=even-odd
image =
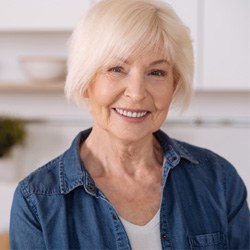
[(195, 88), (250, 90), (250, 0), (165, 0), (191, 29)]

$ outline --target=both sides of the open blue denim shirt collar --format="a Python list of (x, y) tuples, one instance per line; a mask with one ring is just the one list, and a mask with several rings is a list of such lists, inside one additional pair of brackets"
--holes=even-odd
[[(98, 195), (98, 190), (95, 187), (94, 181), (88, 174), (87, 170), (80, 159), (80, 146), (88, 137), (91, 128), (80, 132), (73, 140), (70, 148), (61, 156), (59, 162), (59, 179), (60, 190), (62, 194), (71, 192), (78, 186), (84, 186), (86, 192), (91, 195)], [(198, 161), (184, 148), (178, 141), (171, 139), (163, 131), (159, 130), (154, 133), (159, 141), (165, 161), (170, 167), (175, 167), (184, 158), (193, 164), (198, 164)], [(101, 195), (101, 193), (100, 193)]]

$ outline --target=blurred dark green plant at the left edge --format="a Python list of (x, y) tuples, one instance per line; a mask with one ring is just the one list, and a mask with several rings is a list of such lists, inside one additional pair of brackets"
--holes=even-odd
[(8, 155), (26, 137), (24, 122), (17, 118), (0, 117), (0, 158)]

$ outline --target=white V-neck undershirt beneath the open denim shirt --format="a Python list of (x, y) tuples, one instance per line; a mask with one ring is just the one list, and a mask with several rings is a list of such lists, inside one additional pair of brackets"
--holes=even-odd
[(121, 221), (127, 232), (133, 250), (161, 250), (160, 210), (144, 226), (132, 224), (123, 218)]

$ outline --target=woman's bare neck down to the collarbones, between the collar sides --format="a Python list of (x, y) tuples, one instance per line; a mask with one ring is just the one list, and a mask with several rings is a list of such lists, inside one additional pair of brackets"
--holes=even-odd
[(126, 141), (106, 131), (99, 133), (95, 128), (82, 145), (81, 158), (94, 178), (124, 174), (139, 176), (162, 164), (161, 148), (153, 134), (137, 141)]

